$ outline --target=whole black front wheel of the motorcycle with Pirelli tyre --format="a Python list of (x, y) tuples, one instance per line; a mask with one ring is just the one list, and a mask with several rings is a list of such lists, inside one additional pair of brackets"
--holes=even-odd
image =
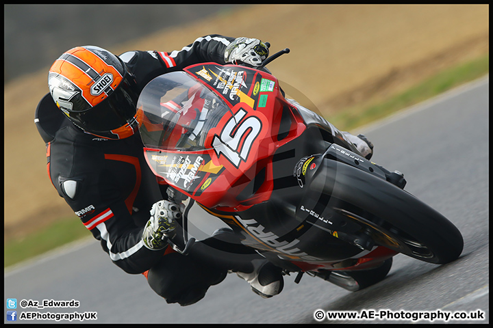
[(462, 253), (462, 234), (453, 223), (407, 191), (360, 169), (324, 159), (307, 187), (310, 197), (329, 195), (327, 208), (357, 223), (377, 245), (435, 264)]

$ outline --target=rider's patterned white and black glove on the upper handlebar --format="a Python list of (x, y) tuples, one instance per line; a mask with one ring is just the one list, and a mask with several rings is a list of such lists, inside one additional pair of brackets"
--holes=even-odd
[(227, 63), (260, 66), (262, 61), (268, 57), (268, 46), (258, 39), (236, 38), (225, 50), (225, 61)]

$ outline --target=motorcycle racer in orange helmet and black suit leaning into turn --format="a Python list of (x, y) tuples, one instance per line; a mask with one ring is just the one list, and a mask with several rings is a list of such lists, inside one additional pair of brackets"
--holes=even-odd
[(128, 51), (117, 57), (97, 46), (78, 46), (49, 70), (49, 94), (40, 100), (35, 122), (47, 144), (53, 187), (112, 262), (127, 273), (143, 273), (167, 303), (196, 303), (228, 270), (262, 297), (281, 292), (283, 278), (257, 254), (242, 265), (204, 258), (199, 250), (207, 243), (224, 247), (229, 231), (196, 243), (189, 256), (168, 245), (166, 234), (176, 229), (174, 219), (183, 206), (168, 199), (166, 184), (156, 180), (144, 159), (138, 95), (154, 77), (191, 64), (259, 66), (267, 56), (260, 40), (214, 34), (169, 53)]

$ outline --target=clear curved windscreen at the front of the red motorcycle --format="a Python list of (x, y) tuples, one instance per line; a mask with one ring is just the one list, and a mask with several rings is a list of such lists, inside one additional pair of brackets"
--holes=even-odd
[(207, 131), (230, 111), (224, 100), (187, 72), (156, 77), (137, 103), (144, 146), (162, 150), (205, 150)]

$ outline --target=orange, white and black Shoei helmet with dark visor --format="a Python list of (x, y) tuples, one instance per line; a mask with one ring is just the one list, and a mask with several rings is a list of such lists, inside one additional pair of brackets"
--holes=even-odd
[(82, 130), (105, 139), (138, 130), (136, 79), (110, 51), (97, 46), (66, 51), (51, 66), (48, 85), (58, 108)]

